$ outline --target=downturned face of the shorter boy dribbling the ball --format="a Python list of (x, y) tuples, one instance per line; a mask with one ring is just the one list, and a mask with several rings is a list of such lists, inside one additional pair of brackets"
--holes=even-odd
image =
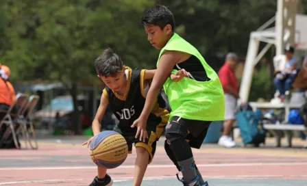
[(125, 77), (124, 70), (122, 70), (121, 72), (117, 72), (114, 76), (104, 77), (98, 75), (98, 77), (103, 81), (103, 83), (106, 83), (108, 88), (114, 90), (115, 92), (122, 92), (123, 90), (125, 90), (127, 79)]

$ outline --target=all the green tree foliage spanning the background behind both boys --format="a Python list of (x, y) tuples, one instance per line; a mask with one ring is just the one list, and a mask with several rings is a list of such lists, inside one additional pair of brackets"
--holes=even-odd
[(250, 32), (275, 15), (277, 1), (1, 0), (0, 61), (10, 66), (15, 83), (47, 79), (66, 84), (75, 103), (80, 81), (100, 83), (94, 59), (106, 47), (127, 66), (155, 66), (158, 50), (138, 24), (154, 3), (171, 9), (176, 31), (219, 70), (225, 53), (246, 55)]

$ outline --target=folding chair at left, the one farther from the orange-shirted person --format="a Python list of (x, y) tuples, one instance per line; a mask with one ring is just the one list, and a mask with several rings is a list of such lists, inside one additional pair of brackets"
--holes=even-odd
[[(25, 105), (24, 109), (21, 111), (21, 114), (17, 119), (17, 122), (21, 124), (21, 130), (23, 132), (23, 136), (25, 137), (26, 148), (27, 148), (27, 143), (29, 143), (29, 146), (32, 149), (38, 148), (35, 129), (32, 120), (29, 118), (29, 116), (30, 114), (32, 114), (32, 111), (34, 110), (39, 99), (40, 99), (39, 96), (36, 95), (30, 96), (29, 101), (27, 101), (27, 105)], [(32, 144), (32, 141), (34, 141), (34, 144)]]

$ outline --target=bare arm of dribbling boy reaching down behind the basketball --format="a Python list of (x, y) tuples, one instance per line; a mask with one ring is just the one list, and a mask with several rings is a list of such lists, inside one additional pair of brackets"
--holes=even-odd
[[(100, 105), (97, 109), (97, 113), (96, 116), (92, 122), (92, 130), (94, 135), (97, 135), (100, 133), (101, 131), (101, 120), (106, 112), (106, 109), (108, 107), (108, 97), (105, 96), (104, 94), (101, 94), (101, 98), (100, 98)], [(90, 137), (90, 139), (88, 139), (88, 141), (84, 142), (82, 145), (90, 145), (90, 141), (92, 141), (93, 137)]]

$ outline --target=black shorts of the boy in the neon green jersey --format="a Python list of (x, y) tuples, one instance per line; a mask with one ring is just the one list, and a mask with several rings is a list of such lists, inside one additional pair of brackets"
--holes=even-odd
[(188, 120), (174, 116), (173, 120), (167, 124), (165, 131), (168, 133), (178, 133), (185, 137), (192, 148), (200, 148), (210, 124), (211, 121)]

